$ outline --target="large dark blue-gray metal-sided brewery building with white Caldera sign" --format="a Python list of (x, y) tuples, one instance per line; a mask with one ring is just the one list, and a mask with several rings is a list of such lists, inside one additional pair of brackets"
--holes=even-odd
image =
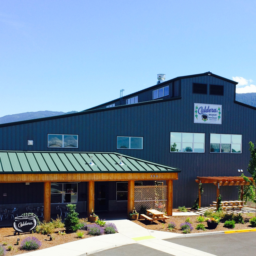
[[(238, 169), (249, 176), (256, 108), (236, 101), (236, 84), (211, 72), (181, 76), (79, 113), (2, 124), (0, 150), (119, 152), (177, 167), (173, 207), (191, 207), (197, 176), (237, 176)], [(119, 185), (109, 182), (105, 210), (126, 207), (118, 200)], [(28, 193), (25, 184), (1, 185), (0, 204), (15, 203), (17, 194), (20, 202), (40, 203), (40, 186)], [(6, 191), (13, 191), (8, 200)], [(77, 198), (81, 205), (85, 193), (86, 184)], [(237, 188), (224, 186), (220, 193), (224, 200), (238, 198)], [(216, 187), (206, 184), (202, 206), (214, 200)]]

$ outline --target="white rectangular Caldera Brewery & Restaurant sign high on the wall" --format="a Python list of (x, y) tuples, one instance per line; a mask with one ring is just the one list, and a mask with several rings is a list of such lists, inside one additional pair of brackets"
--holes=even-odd
[(221, 125), (222, 105), (194, 103), (194, 123)]

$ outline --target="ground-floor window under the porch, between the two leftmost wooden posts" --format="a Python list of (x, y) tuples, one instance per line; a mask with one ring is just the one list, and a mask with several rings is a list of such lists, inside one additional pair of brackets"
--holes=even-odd
[(77, 183), (51, 183), (51, 203), (77, 203)]

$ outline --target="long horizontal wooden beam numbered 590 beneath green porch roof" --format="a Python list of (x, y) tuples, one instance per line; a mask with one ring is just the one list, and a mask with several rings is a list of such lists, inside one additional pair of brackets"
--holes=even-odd
[[(157, 177), (156, 177), (157, 175)], [(177, 180), (177, 172), (136, 172), (136, 173), (0, 173), (0, 183), (16, 182), (80, 182), (80, 181), (143, 181)]]

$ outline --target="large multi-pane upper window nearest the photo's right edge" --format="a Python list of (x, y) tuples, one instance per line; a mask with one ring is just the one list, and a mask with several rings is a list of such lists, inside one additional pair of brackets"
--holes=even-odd
[(211, 153), (242, 153), (241, 134), (210, 134)]

